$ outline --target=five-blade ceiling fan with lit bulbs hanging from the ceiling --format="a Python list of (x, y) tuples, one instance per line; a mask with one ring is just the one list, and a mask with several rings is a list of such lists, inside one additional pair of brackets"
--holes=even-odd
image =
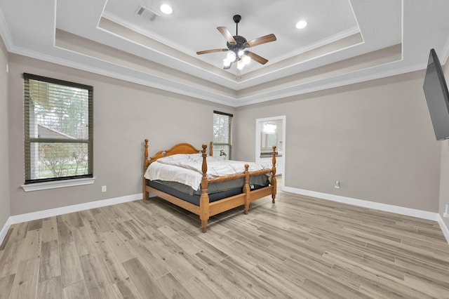
[(239, 35), (239, 22), (241, 20), (241, 15), (234, 15), (233, 20), (236, 22), (236, 35), (234, 36), (232, 36), (231, 32), (229, 32), (226, 27), (217, 27), (218, 31), (220, 31), (220, 33), (225, 36), (225, 39), (227, 40), (227, 48), (198, 51), (196, 54), (201, 55), (214, 52), (227, 52), (227, 56), (225, 60), (223, 60), (225, 65), (225, 67), (223, 67), (224, 69), (229, 69), (232, 62), (237, 62), (237, 68), (243, 69), (243, 67), (247, 65), (251, 59), (262, 65), (267, 63), (267, 59), (246, 50), (246, 48), (276, 41), (276, 36), (274, 34), (268, 34), (257, 37), (257, 39), (247, 41), (243, 36)]

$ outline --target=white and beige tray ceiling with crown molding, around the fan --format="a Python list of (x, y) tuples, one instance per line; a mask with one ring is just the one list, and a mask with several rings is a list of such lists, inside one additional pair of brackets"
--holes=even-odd
[[(0, 34), (11, 53), (238, 107), (424, 69), (430, 48), (445, 62), (448, 11), (444, 0), (1, 0)], [(235, 35), (235, 14), (246, 39), (276, 35), (250, 48), (267, 64), (196, 55), (226, 48), (216, 28)]]

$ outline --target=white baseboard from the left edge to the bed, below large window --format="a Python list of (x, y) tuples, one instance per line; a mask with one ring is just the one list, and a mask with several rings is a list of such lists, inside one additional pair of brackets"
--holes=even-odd
[(13, 215), (6, 220), (4, 227), (0, 231), (0, 244), (3, 242), (9, 227), (15, 223), (32, 221), (41, 218), (53, 217), (57, 215), (74, 213), (79, 211), (88, 210), (90, 208), (100, 208), (102, 206), (112, 206), (113, 204), (121, 204), (123, 202), (135, 201), (142, 199), (143, 194), (132, 194), (124, 197), (115, 197), (113, 199), (103, 199), (98, 201), (86, 202), (85, 204), (74, 204), (73, 206), (62, 206), (61, 208), (51, 208), (49, 210), (37, 211), (32, 213), (26, 213), (21, 215)]

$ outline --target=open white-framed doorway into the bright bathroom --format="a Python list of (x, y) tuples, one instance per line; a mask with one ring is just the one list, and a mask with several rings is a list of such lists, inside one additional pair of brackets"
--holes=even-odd
[[(255, 120), (255, 161), (271, 166), (273, 145), (276, 145), (276, 175), (285, 178), (286, 116)], [(282, 180), (282, 187), (285, 179)]]

